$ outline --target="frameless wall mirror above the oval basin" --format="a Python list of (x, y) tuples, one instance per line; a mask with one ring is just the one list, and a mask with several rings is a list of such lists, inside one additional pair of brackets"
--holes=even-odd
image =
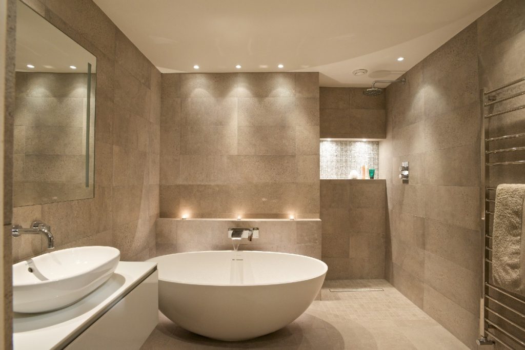
[(97, 58), (17, 2), (14, 206), (92, 198)]

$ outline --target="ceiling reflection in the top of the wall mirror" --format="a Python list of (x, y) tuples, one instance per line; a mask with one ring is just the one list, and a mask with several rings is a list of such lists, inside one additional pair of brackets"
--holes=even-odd
[[(16, 7), (16, 70), (85, 73), (97, 58), (21, 1)], [(33, 65), (35, 68), (28, 68)], [(71, 69), (69, 66), (77, 67)]]

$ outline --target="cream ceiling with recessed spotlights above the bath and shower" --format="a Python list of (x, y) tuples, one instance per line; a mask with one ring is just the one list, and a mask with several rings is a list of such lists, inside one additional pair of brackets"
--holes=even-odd
[(321, 86), (344, 87), (399, 77), (499, 1), (95, 3), (161, 72), (319, 71)]

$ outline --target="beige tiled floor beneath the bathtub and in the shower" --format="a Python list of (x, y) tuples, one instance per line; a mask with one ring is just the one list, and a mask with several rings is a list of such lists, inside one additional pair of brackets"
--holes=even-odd
[[(366, 287), (384, 291), (329, 291)], [(296, 321), (246, 342), (215, 341), (159, 318), (142, 349), (468, 349), (385, 280), (326, 281), (321, 300)]]

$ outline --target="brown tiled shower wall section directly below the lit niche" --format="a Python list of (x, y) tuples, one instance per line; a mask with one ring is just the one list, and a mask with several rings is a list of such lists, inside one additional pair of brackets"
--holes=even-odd
[(329, 266), (327, 279), (383, 278), (385, 182), (321, 180), (320, 185), (321, 257)]

